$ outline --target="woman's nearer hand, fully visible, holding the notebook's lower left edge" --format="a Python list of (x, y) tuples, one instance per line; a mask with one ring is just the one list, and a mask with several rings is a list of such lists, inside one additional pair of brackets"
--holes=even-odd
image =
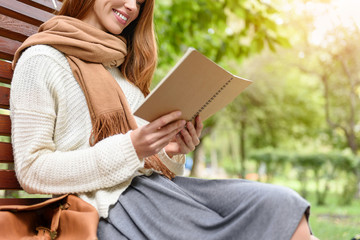
[(184, 129), (186, 121), (178, 120), (180, 116), (181, 112), (172, 112), (131, 132), (131, 141), (140, 159), (160, 152)]

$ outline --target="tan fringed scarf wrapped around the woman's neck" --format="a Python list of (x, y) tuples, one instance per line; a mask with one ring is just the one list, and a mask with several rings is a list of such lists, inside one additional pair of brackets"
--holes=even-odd
[[(75, 18), (56, 16), (42, 24), (39, 33), (30, 36), (20, 46), (14, 56), (13, 68), (21, 52), (37, 44), (50, 45), (66, 55), (89, 107), (93, 125), (91, 146), (106, 137), (137, 128), (121, 87), (105, 69), (118, 67), (124, 62), (127, 50), (122, 37)], [(145, 159), (145, 168), (170, 179), (174, 177), (157, 155)]]

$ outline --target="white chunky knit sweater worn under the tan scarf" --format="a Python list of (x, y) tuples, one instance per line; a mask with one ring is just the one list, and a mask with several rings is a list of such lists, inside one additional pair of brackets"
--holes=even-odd
[[(134, 111), (143, 94), (117, 68), (108, 70)], [(107, 217), (110, 205), (143, 170), (130, 132), (90, 147), (92, 125), (85, 96), (65, 56), (50, 46), (33, 46), (22, 54), (10, 96), (15, 170), (25, 191), (77, 193)], [(159, 156), (175, 174), (183, 174), (183, 155), (170, 159), (163, 150)]]

